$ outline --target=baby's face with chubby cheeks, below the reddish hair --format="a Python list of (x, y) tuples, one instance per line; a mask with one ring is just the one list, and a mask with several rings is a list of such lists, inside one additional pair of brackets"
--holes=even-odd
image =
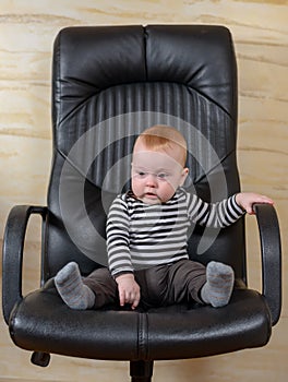
[(145, 150), (139, 143), (132, 163), (134, 195), (146, 204), (166, 203), (171, 199), (188, 176), (188, 168), (183, 168), (177, 158), (177, 147), (169, 153), (156, 152)]

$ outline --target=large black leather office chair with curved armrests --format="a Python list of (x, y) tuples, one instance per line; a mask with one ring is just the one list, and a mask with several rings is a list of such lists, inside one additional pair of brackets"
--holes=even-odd
[[(175, 126), (185, 135), (191, 192), (217, 201), (240, 190), (237, 92), (233, 44), (223, 26), (97, 26), (59, 33), (48, 203), (13, 207), (3, 241), (3, 314), (13, 342), (33, 351), (34, 363), (47, 366), (49, 354), (130, 360), (132, 381), (151, 381), (154, 360), (267, 344), (281, 307), (279, 228), (269, 205), (255, 205), (262, 293), (247, 286), (244, 218), (223, 230), (194, 227), (189, 239), (191, 259), (233, 267), (236, 288), (227, 307), (75, 311), (61, 301), (52, 278), (72, 260), (83, 275), (106, 265), (107, 208), (129, 187), (133, 142), (148, 126)], [(23, 297), (23, 247), (33, 214), (43, 218), (41, 286)]]

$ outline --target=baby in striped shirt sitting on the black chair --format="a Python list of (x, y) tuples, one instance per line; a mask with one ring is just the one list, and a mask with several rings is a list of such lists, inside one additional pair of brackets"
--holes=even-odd
[(212, 261), (205, 267), (188, 255), (191, 224), (224, 228), (254, 203), (267, 196), (238, 193), (219, 203), (206, 203), (183, 188), (187, 142), (175, 128), (154, 126), (136, 140), (132, 157), (131, 190), (116, 198), (107, 219), (108, 268), (87, 277), (76, 263), (55, 277), (62, 300), (72, 309), (99, 309), (119, 303), (135, 309), (199, 302), (227, 305), (233, 289), (233, 271)]

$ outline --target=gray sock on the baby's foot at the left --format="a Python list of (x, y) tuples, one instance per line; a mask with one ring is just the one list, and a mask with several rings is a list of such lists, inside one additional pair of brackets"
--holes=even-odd
[(83, 284), (76, 263), (71, 262), (62, 267), (55, 277), (55, 285), (62, 300), (71, 309), (85, 310), (94, 306), (95, 295)]

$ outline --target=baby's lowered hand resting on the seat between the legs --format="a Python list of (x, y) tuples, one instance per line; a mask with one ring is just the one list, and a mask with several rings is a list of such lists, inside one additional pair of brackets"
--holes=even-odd
[(125, 273), (116, 277), (118, 284), (120, 306), (131, 303), (131, 308), (134, 310), (140, 301), (140, 286), (135, 282), (132, 273)]

